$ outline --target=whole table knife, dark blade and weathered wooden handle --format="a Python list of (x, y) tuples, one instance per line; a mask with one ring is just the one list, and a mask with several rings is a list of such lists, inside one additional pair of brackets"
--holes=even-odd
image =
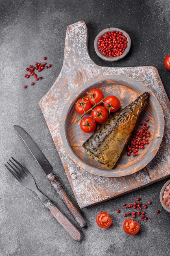
[(48, 159), (46, 159), (45, 155), (42, 153), (42, 151), (39, 149), (35, 141), (30, 137), (30, 135), (20, 126), (14, 125), (13, 126), (17, 133), (20, 135), (30, 152), (32, 153), (35, 160), (38, 162), (38, 164), (41, 166), (43, 171), (46, 173), (46, 176), (50, 182), (50, 184), (53, 186), (54, 190), (57, 192), (65, 206), (70, 211), (72, 217), (74, 220), (76, 220), (79, 227), (83, 228), (87, 226), (87, 222), (81, 215), (81, 213), (76, 208), (75, 204), (70, 200), (67, 193), (61, 186), (60, 182), (57, 180), (57, 177), (52, 173), (52, 166), (49, 163)]

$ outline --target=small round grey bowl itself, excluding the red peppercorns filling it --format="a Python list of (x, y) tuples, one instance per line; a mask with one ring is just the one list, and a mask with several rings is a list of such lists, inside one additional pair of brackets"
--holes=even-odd
[[(107, 32), (113, 32), (113, 31), (119, 31), (122, 32), (123, 36), (126, 36), (127, 38), (127, 47), (125, 49), (125, 51), (123, 52), (122, 55), (117, 56), (117, 57), (109, 57), (109, 56), (105, 56), (104, 54), (102, 54), (98, 48), (98, 38), (99, 36), (104, 36)], [(122, 29), (118, 29), (116, 27), (109, 27), (108, 29), (103, 29), (102, 31), (100, 31), (100, 33), (98, 33), (98, 35), (96, 36), (95, 40), (94, 40), (94, 49), (96, 51), (96, 54), (104, 61), (119, 61), (120, 59), (124, 58), (129, 50), (131, 48), (131, 38), (130, 36)]]

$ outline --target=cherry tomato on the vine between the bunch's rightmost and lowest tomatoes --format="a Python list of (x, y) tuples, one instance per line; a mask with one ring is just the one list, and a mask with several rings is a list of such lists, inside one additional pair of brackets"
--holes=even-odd
[(96, 122), (104, 123), (107, 120), (107, 118), (109, 117), (109, 113), (106, 108), (104, 108), (102, 106), (96, 106), (92, 110), (92, 117), (94, 120), (96, 120)]

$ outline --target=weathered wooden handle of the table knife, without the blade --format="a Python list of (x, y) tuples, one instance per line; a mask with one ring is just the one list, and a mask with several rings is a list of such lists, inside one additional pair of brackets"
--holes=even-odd
[[(48, 176), (47, 176), (48, 177)], [(76, 220), (79, 227), (83, 228), (87, 226), (87, 222), (84, 220), (81, 213), (78, 211), (76, 206), (68, 197), (67, 193), (64, 191), (63, 187), (57, 180), (56, 176), (53, 174), (52, 177), (48, 177), (49, 182), (53, 186), (54, 190), (57, 192), (63, 203), (66, 205), (70, 213), (72, 214), (74, 220)]]

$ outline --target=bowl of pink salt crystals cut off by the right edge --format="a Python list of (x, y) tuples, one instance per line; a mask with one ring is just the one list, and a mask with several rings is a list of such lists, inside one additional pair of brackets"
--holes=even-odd
[(163, 185), (159, 198), (162, 207), (170, 213), (170, 180)]

